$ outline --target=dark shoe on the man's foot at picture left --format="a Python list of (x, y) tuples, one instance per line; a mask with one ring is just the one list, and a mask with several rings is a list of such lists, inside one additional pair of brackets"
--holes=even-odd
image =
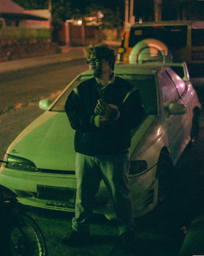
[(62, 244), (69, 246), (79, 246), (88, 243), (90, 237), (90, 232), (77, 232), (72, 229), (72, 231), (62, 238)]

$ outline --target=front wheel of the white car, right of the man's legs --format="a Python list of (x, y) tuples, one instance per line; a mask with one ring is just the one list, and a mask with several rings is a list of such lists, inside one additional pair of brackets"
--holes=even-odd
[(158, 201), (164, 201), (170, 194), (173, 179), (173, 162), (169, 153), (161, 152), (157, 162), (156, 178), (158, 185)]

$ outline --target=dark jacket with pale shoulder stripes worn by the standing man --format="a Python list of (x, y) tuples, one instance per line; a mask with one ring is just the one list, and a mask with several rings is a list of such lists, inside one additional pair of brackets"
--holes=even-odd
[(103, 93), (104, 101), (118, 106), (120, 117), (104, 127), (93, 122), (97, 100), (95, 78), (82, 82), (67, 98), (65, 111), (75, 132), (75, 151), (89, 156), (127, 152), (131, 143), (130, 130), (137, 126), (144, 116), (139, 91), (126, 80), (115, 77)]

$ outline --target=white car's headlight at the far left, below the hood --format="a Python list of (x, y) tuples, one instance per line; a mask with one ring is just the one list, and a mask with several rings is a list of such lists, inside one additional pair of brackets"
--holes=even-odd
[(30, 171), (30, 172), (38, 172), (38, 169), (36, 168), (35, 164), (25, 158), (19, 157), (19, 156), (12, 156), (7, 155), (7, 168), (17, 169), (17, 170), (24, 170), (24, 171)]

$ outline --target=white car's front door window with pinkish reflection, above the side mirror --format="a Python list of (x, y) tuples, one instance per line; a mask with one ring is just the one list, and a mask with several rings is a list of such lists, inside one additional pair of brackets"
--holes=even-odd
[(159, 83), (162, 88), (163, 104), (165, 107), (169, 106), (170, 103), (176, 103), (179, 101), (180, 97), (177, 92), (177, 88), (173, 83), (169, 74), (165, 72), (160, 72), (158, 74)]

